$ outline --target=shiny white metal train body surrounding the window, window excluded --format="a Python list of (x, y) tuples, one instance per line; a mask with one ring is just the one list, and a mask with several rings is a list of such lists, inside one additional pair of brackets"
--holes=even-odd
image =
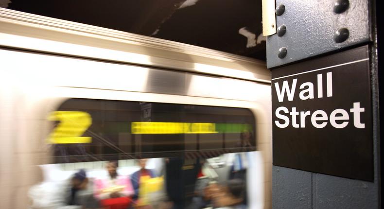
[[(70, 98), (250, 109), (260, 151), (250, 208), (271, 207), (271, 87), (262, 61), (0, 8), (0, 204), (30, 206), (49, 164), (47, 115)], [(253, 196), (252, 196), (253, 195)]]

